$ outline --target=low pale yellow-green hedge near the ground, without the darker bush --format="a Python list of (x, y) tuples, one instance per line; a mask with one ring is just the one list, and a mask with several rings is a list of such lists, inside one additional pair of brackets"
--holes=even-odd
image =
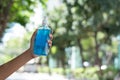
[[(48, 68), (48, 67), (39, 67), (38, 72), (43, 72), (43, 73), (56, 73), (56, 74), (61, 74), (64, 75), (64, 70), (62, 68)], [(72, 77), (74, 76), (75, 79), (80, 80), (80, 79), (88, 79), (88, 80), (99, 80), (98, 75), (97, 75), (97, 68), (78, 68), (75, 70), (70, 70), (69, 68), (65, 69), (65, 76)]]

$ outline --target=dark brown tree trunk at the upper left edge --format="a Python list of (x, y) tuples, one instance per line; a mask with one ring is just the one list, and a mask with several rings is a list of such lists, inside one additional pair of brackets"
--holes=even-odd
[(13, 0), (0, 0), (0, 42), (6, 29), (10, 8)]

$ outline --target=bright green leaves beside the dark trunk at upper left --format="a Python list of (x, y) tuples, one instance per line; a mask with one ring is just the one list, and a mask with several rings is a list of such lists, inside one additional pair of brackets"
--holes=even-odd
[(10, 11), (10, 21), (25, 25), (29, 21), (36, 4), (35, 0), (14, 0)]

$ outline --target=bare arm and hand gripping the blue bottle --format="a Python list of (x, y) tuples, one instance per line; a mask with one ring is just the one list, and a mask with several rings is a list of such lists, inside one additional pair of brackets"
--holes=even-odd
[[(8, 76), (10, 76), (16, 70), (18, 70), (29, 60), (37, 57), (36, 55), (33, 54), (33, 42), (34, 42), (34, 37), (36, 35), (36, 31), (33, 33), (30, 41), (30, 47), (26, 51), (24, 51), (18, 57), (0, 66), (0, 80), (5, 80)], [(53, 36), (52, 34), (50, 34), (50, 40), (48, 40), (48, 44), (50, 47), (52, 46), (52, 39)]]

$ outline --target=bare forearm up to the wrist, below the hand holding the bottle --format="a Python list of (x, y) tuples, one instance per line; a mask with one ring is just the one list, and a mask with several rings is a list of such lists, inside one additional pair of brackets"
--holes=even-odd
[(26, 50), (21, 55), (16, 57), (15, 59), (3, 64), (0, 66), (0, 80), (6, 79), (13, 72), (18, 70), (21, 66), (23, 66), (26, 62), (31, 60), (32, 52), (31, 50)]

